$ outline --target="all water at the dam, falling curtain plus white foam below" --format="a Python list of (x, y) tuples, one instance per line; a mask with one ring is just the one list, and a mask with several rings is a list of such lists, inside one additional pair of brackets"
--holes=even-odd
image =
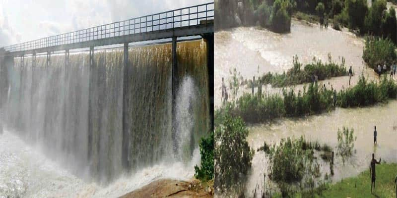
[[(178, 43), (172, 130), (171, 44), (133, 47), (130, 133), (123, 51), (15, 58), (1, 92), (0, 197), (118, 197), (156, 179), (187, 180), (209, 130), (206, 43)], [(4, 70), (2, 70), (4, 72)], [(3, 82), (3, 81), (1, 81)], [(5, 93), (5, 94), (3, 94)]]

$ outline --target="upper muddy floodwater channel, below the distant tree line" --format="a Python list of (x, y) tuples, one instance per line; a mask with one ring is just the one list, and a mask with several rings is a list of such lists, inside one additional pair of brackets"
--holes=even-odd
[[(297, 20), (292, 20), (291, 33), (288, 34), (276, 34), (260, 27), (239, 27), (219, 31), (215, 33), (214, 47), (214, 91), (217, 96), (214, 102), (217, 107), (221, 104), (222, 77), (227, 85), (231, 79), (230, 70), (236, 68), (244, 79), (252, 79), (254, 76), (258, 78), (267, 72), (281, 74), (292, 68), (294, 55), (298, 55), (299, 62), (303, 64), (311, 63), (313, 57), (327, 62), (329, 53), (337, 63), (344, 57), (345, 67), (352, 66), (352, 85), (358, 82), (361, 73), (369, 80), (378, 79), (362, 59), (362, 38), (348, 31), (322, 29), (319, 25), (308, 25)], [(323, 83), (328, 88), (332, 85), (334, 89), (340, 90), (349, 87), (349, 77), (319, 81), (320, 85)], [(303, 85), (295, 86), (294, 89), (301, 90)], [(280, 88), (271, 88), (270, 85), (264, 86), (262, 90), (267, 94), (281, 93)], [(236, 97), (241, 96), (243, 92), (251, 93), (251, 89), (240, 87)]]

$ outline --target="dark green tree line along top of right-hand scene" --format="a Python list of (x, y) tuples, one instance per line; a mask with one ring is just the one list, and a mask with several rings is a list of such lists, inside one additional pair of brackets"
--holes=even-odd
[(397, 43), (394, 8), (386, 0), (215, 0), (215, 27), (261, 25), (274, 32), (289, 32), (291, 16), (300, 11), (333, 22), (335, 29), (347, 27), (360, 35), (389, 38)]

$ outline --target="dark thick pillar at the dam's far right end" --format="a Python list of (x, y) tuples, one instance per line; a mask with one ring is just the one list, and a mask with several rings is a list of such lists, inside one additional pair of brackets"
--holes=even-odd
[(204, 36), (207, 43), (207, 72), (208, 72), (208, 97), (209, 97), (209, 117), (211, 128), (214, 129), (214, 34)]

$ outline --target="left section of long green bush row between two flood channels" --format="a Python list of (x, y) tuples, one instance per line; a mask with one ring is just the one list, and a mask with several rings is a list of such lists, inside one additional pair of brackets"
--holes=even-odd
[(271, 95), (260, 97), (245, 93), (236, 100), (229, 102), (219, 111), (228, 111), (231, 115), (240, 116), (246, 122), (258, 123), (279, 117), (294, 117), (319, 113), (332, 108), (331, 90), (319, 89), (310, 84), (308, 89), (296, 94), (292, 89), (283, 90), (283, 96)]

